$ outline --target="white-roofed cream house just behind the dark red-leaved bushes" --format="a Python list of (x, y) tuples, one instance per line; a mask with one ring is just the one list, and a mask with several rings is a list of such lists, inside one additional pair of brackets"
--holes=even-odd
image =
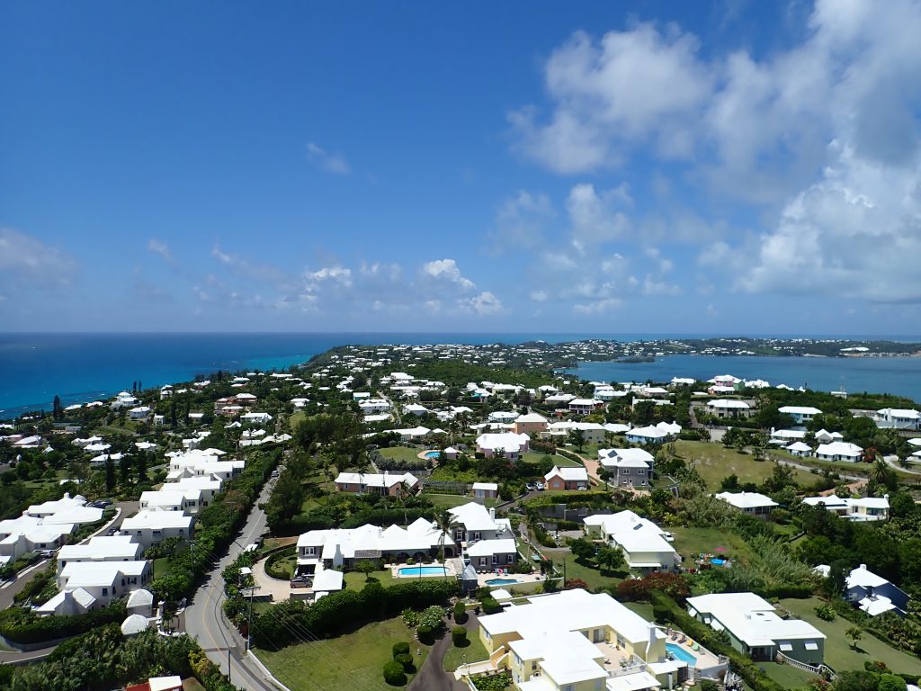
[(586, 534), (596, 542), (619, 547), (627, 566), (647, 574), (670, 571), (678, 564), (678, 553), (664, 537), (664, 531), (633, 511), (596, 514), (583, 519)]

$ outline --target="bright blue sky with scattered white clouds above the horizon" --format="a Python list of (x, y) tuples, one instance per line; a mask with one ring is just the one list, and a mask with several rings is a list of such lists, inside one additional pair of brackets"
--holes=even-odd
[(0, 4), (0, 331), (921, 332), (921, 4)]

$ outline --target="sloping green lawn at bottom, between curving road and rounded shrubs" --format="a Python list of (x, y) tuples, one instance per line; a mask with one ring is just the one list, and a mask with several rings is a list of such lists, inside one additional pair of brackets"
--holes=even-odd
[[(367, 624), (338, 638), (300, 643), (277, 652), (258, 650), (258, 654), (274, 676), (291, 688), (392, 691), (381, 671), (393, 657), (393, 644), (399, 641), (410, 644), (416, 669), (422, 667), (430, 646), (415, 640), (400, 617)], [(421, 652), (418, 656), (417, 650)]]

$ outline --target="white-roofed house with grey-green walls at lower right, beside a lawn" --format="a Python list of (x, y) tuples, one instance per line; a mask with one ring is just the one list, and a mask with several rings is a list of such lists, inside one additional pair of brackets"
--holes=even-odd
[(753, 592), (724, 592), (687, 599), (688, 614), (717, 631), (755, 662), (773, 662), (776, 653), (818, 665), (824, 662), (825, 634), (802, 619), (782, 619), (774, 605)]

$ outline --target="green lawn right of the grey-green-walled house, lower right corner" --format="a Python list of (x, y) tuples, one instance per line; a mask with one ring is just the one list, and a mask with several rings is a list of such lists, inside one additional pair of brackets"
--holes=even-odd
[(851, 648), (850, 639), (845, 636), (845, 631), (854, 625), (841, 616), (835, 617), (834, 621), (822, 621), (815, 614), (815, 607), (822, 603), (819, 598), (786, 599), (780, 603), (789, 612), (808, 621), (828, 637), (825, 639), (825, 662), (832, 669), (862, 670), (864, 662), (881, 660), (889, 665), (892, 672), (921, 674), (921, 660), (902, 650), (895, 650), (869, 632), (865, 632), (863, 638), (857, 641), (857, 650)]

